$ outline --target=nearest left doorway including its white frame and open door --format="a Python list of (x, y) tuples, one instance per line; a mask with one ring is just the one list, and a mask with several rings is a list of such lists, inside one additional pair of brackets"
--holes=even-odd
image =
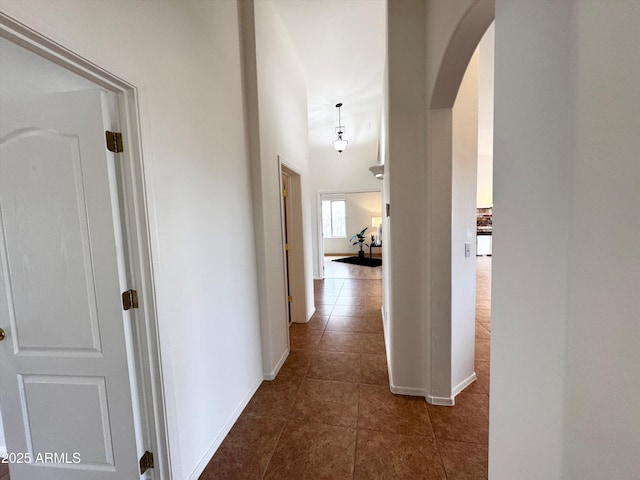
[(160, 478), (135, 88), (1, 14), (0, 49), (0, 450), (13, 480)]

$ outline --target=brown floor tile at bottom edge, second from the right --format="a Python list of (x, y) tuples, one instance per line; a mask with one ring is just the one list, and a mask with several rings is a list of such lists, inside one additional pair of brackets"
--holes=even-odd
[(358, 430), (355, 479), (445, 480), (432, 437)]

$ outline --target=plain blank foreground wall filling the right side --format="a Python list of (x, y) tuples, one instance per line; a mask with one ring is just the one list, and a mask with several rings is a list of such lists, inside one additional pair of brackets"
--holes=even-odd
[(496, 2), (490, 478), (640, 469), (639, 23)]

